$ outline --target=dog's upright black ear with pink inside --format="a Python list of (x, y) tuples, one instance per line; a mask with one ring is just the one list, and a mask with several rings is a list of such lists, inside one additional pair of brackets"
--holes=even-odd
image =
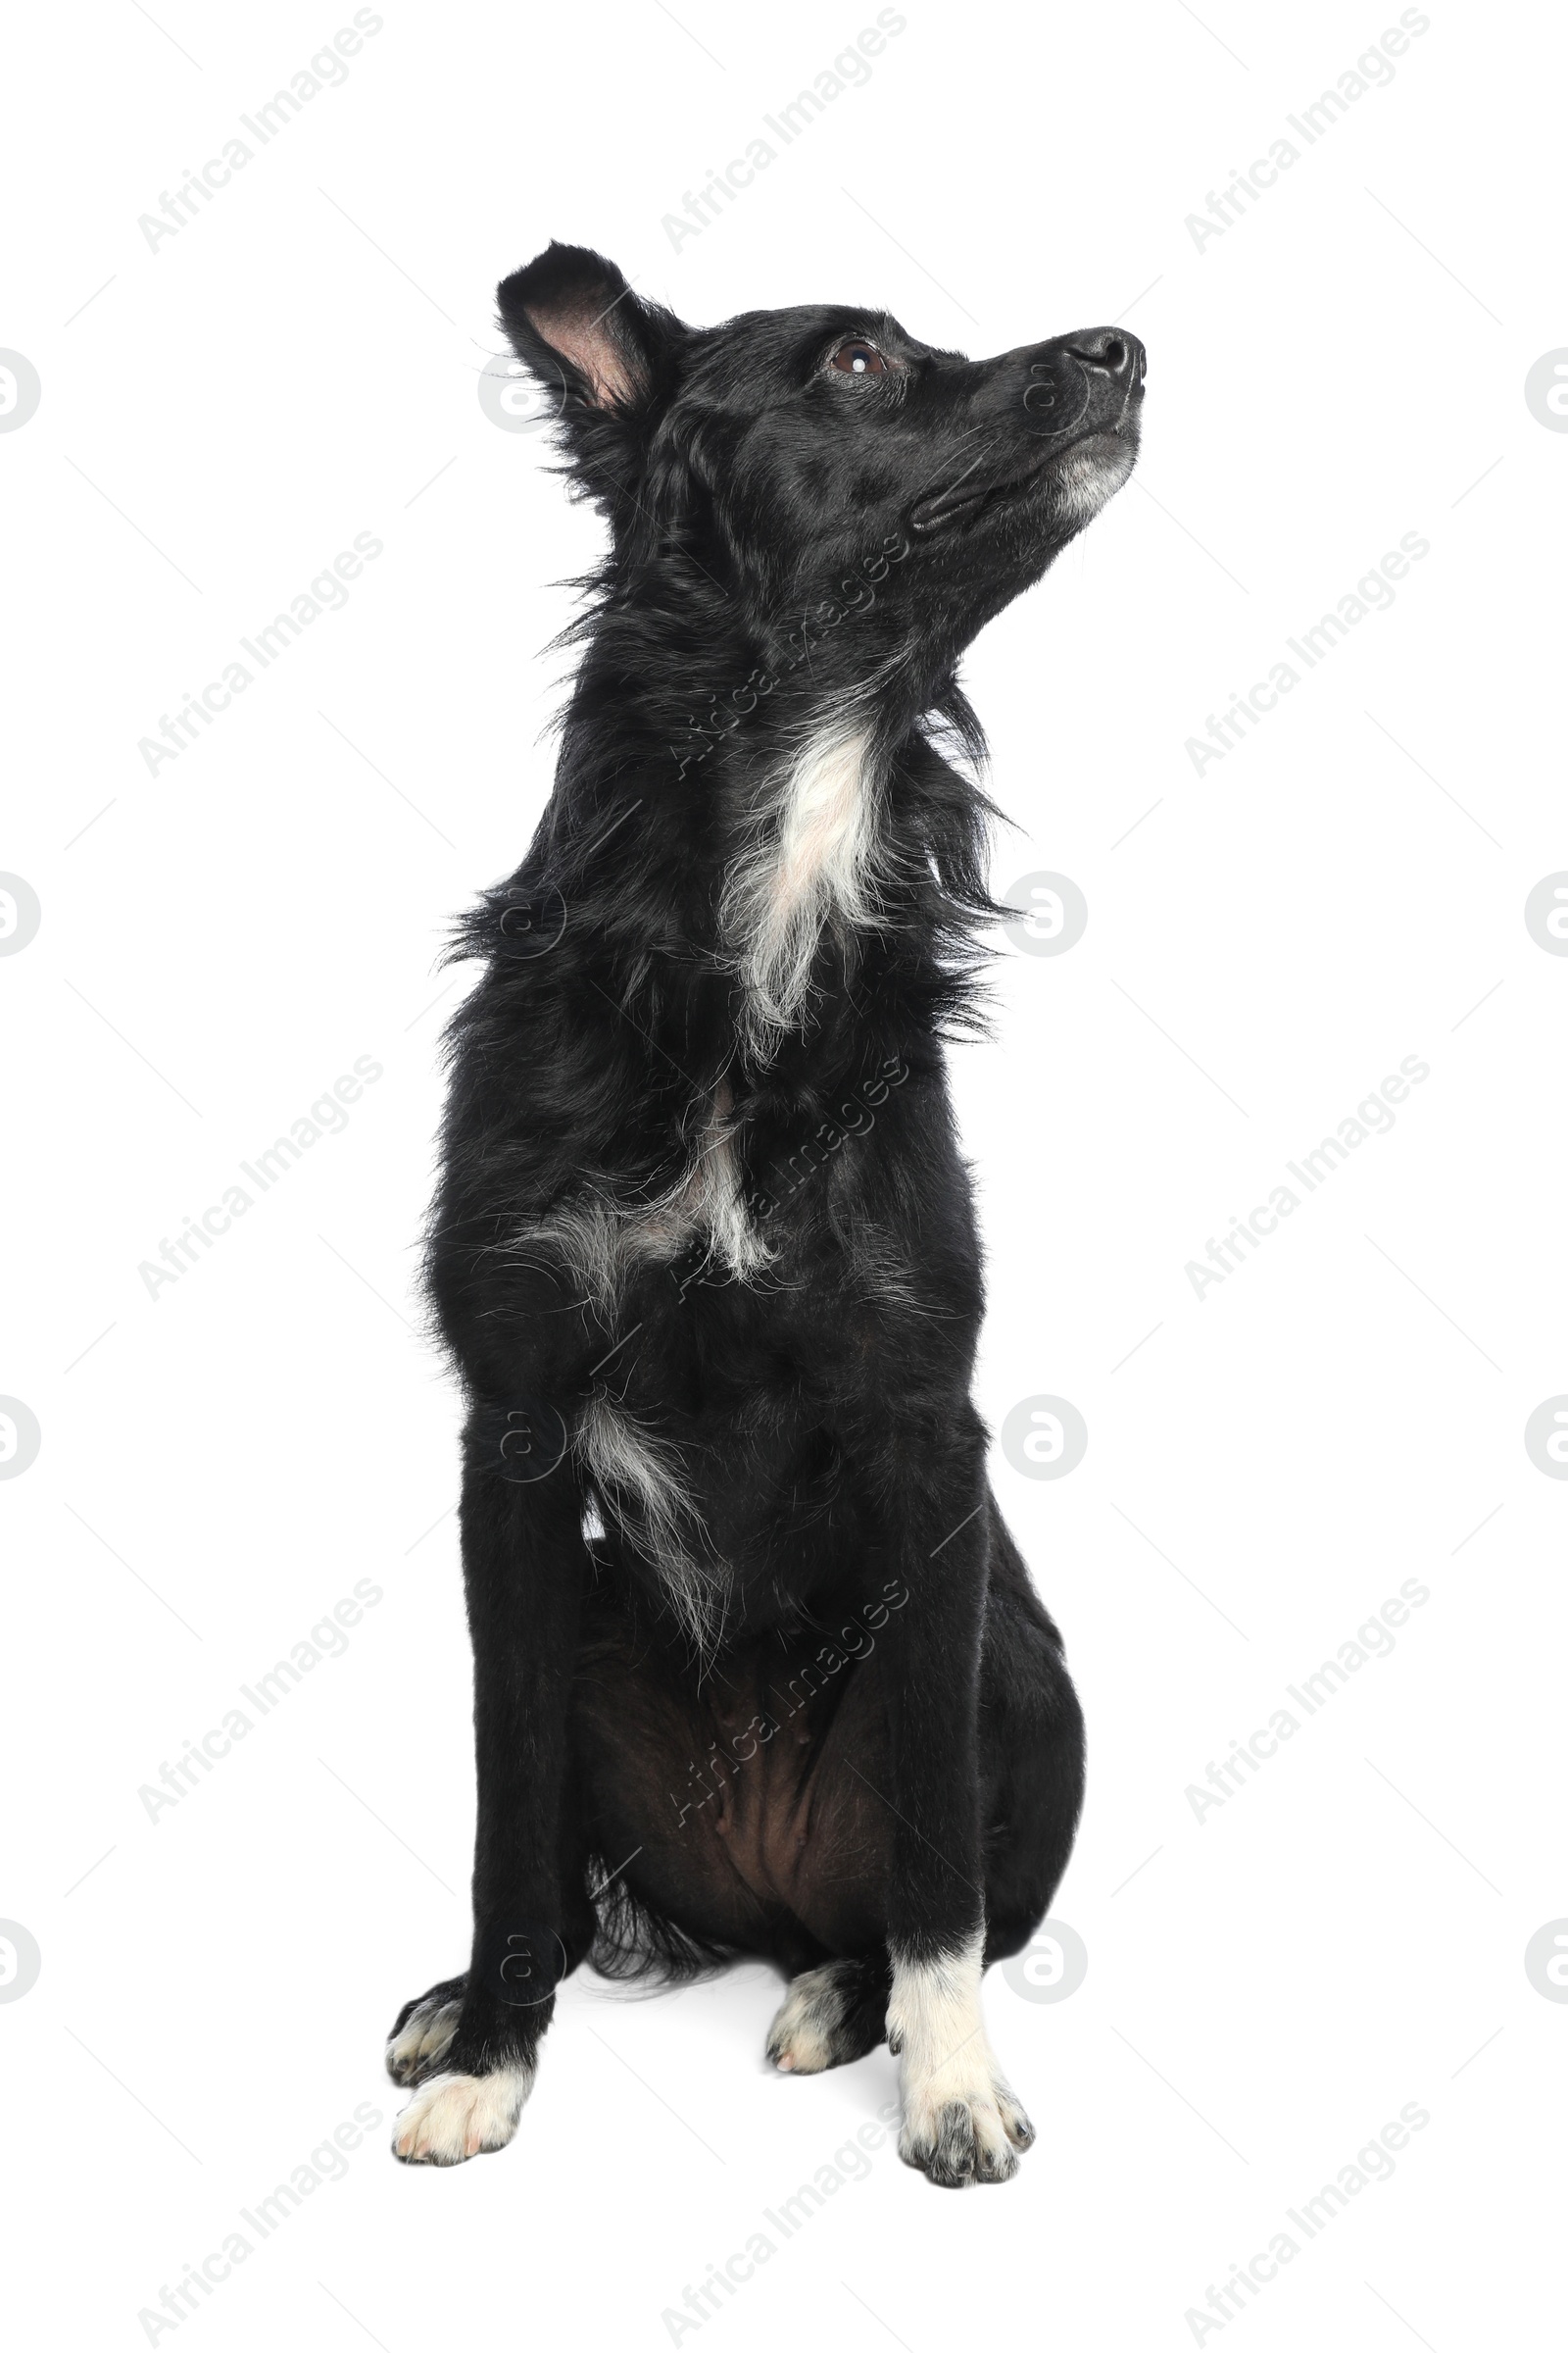
[(548, 245), (496, 299), (512, 351), (583, 452), (604, 442), (604, 426), (642, 424), (686, 332), (585, 245)]

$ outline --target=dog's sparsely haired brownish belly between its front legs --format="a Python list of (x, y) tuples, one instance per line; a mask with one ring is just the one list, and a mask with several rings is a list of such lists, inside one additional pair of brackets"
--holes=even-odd
[[(832, 1664), (837, 1659), (837, 1666)], [(698, 1685), (595, 1614), (576, 1689), (585, 1833), (632, 1894), (691, 1934), (802, 1953), (882, 1941), (891, 1812), (875, 1657), (818, 1633), (722, 1652)]]

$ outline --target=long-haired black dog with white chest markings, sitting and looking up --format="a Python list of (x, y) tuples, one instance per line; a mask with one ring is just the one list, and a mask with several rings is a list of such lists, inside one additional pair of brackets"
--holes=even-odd
[(393, 2028), (393, 2146), (501, 2148), (578, 1962), (743, 1953), (790, 1979), (778, 2068), (886, 2035), (900, 2155), (1004, 2181), (980, 1972), (1067, 1861), (1081, 1715), (969, 1395), (943, 1042), (1001, 911), (954, 671), (1126, 482), (1143, 346), (684, 327), (567, 245), (501, 315), (611, 546), (555, 795), (461, 936), (428, 1266), (475, 1925)]

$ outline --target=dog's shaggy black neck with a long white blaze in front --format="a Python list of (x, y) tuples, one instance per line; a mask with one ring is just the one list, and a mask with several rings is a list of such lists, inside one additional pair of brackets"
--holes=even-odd
[(607, 929), (639, 934), (668, 1002), (708, 974), (743, 1066), (799, 1064), (825, 993), (886, 965), (893, 939), (910, 1019), (938, 1026), (961, 995), (950, 951), (987, 908), (990, 805), (931, 744), (936, 706), (978, 753), (952, 673), (870, 619), (792, 661), (733, 614), (708, 619), (698, 692), (686, 614), (599, 609), (545, 833), (607, 842), (625, 878)]

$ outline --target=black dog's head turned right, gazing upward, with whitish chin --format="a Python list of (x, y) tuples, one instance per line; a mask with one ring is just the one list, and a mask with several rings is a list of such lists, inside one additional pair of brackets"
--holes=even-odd
[[(1126, 482), (1145, 355), (1091, 327), (964, 360), (882, 311), (820, 304), (686, 327), (550, 245), (501, 287), (517, 358), (623, 595), (696, 565), (788, 626), (875, 581), (875, 638), (952, 659)], [(865, 645), (863, 633), (856, 633)]]

